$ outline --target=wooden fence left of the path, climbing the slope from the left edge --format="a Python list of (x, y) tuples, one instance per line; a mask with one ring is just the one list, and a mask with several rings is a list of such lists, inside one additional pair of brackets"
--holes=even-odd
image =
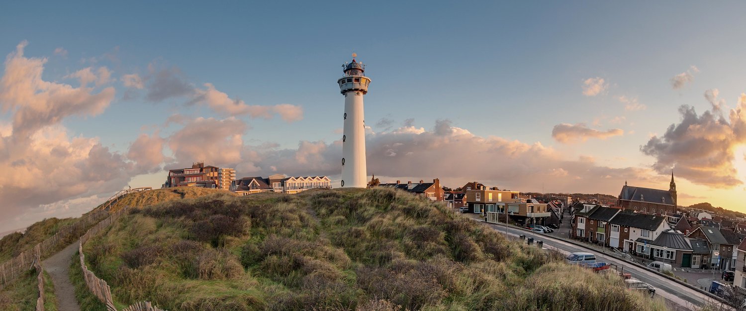
[[(69, 226), (58, 230), (57, 233), (54, 233), (54, 236), (50, 236), (39, 244), (34, 245), (34, 248), (28, 251), (22, 251), (21, 254), (18, 254), (18, 256), (12, 260), (0, 264), (0, 289), (3, 289), (10, 282), (16, 280), (24, 274), (25, 271), (28, 271), (31, 266), (33, 266), (34, 260), (37, 257), (43, 259), (54, 254), (58, 251), (60, 242), (66, 244), (72, 236), (75, 236), (76, 233), (79, 233), (87, 227), (90, 227), (92, 224), (101, 221), (101, 219), (107, 215), (108, 213), (105, 211), (98, 211), (83, 216), (83, 218), (78, 219), (74, 224), (70, 224)], [(78, 236), (75, 236), (75, 238), (77, 237)]]

